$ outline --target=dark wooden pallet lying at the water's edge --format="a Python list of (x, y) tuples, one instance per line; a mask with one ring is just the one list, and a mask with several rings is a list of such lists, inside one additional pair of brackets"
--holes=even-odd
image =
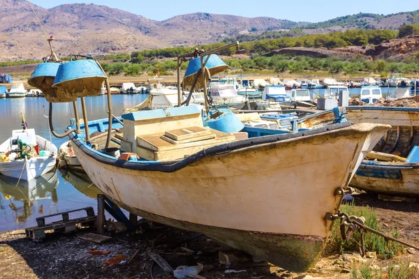
[[(86, 217), (73, 218), (68, 217), (68, 213), (77, 212), (77, 211), (86, 211)], [(45, 218), (50, 218), (54, 216), (60, 216), (62, 220), (45, 224)], [(25, 229), (26, 235), (29, 239), (44, 239), (45, 232), (49, 230), (54, 230), (54, 232), (61, 232), (67, 234), (69, 232), (74, 232), (76, 230), (75, 225), (91, 226), (96, 224), (96, 215), (94, 214), (93, 207), (84, 207), (82, 209), (75, 209), (71, 211), (65, 211), (61, 213), (56, 213), (48, 216), (42, 216), (36, 218), (36, 227), (28, 227)]]

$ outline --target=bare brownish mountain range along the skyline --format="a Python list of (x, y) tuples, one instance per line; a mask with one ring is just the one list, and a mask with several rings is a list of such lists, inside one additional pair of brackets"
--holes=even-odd
[[(49, 47), (29, 3), (26, 0), (0, 0), (0, 6), (0, 60), (46, 56)], [(351, 15), (316, 25), (272, 17), (210, 13), (178, 15), (159, 22), (117, 8), (88, 3), (64, 4), (50, 9), (34, 5), (34, 9), (47, 36), (55, 36), (54, 50), (59, 56), (203, 45), (249, 31), (261, 33), (302, 27), (306, 33), (327, 33), (361, 26), (367, 28), (365, 21), (374, 24), (374, 28), (389, 29), (397, 29), (404, 22), (410, 23), (408, 13)]]

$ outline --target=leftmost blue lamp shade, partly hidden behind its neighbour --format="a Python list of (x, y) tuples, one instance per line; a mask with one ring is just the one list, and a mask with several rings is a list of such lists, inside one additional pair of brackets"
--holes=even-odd
[(55, 89), (52, 88), (52, 84), (54, 84), (55, 75), (57, 75), (59, 66), (60, 63), (56, 62), (41, 63), (35, 68), (34, 73), (32, 73), (28, 80), (29, 85), (43, 91), (47, 101), (52, 103), (57, 102), (57, 96)]

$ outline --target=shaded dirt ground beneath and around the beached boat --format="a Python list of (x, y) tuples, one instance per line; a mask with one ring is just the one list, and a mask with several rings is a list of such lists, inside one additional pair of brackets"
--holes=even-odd
[[(384, 202), (376, 195), (367, 194), (354, 197), (357, 206), (367, 205), (377, 211), (383, 227), (397, 227), (401, 231), (401, 239), (418, 246), (418, 202)], [(376, 267), (383, 267), (391, 262), (362, 259), (357, 253), (345, 253), (322, 257), (308, 273), (292, 273), (266, 262), (249, 261), (231, 266), (219, 264), (219, 251), (230, 249), (228, 246), (195, 232), (159, 224), (150, 227), (146, 220), (140, 220), (135, 232), (113, 234), (111, 241), (101, 244), (77, 237), (86, 231), (91, 232), (91, 229), (79, 229), (75, 234), (47, 234), (47, 238), (40, 242), (26, 239), (19, 231), (0, 234), (0, 278), (151, 278), (152, 259), (147, 255), (149, 251), (161, 255), (174, 269), (200, 262), (204, 265), (200, 276), (207, 279), (350, 278), (349, 272), (354, 266), (372, 263)], [(110, 254), (90, 255), (89, 250), (110, 251)], [(133, 257), (137, 251), (138, 255)], [(124, 255), (122, 264), (104, 264), (117, 255)], [(401, 258), (419, 263), (419, 251), (410, 249)], [(172, 278), (156, 264), (153, 273), (154, 278)]]

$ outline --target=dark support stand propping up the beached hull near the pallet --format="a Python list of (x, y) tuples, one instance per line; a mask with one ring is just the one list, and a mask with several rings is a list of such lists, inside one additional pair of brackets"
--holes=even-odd
[[(122, 210), (114, 204), (108, 197), (103, 194), (98, 194), (98, 234), (105, 233), (105, 210), (110, 213), (110, 215), (115, 218), (115, 220), (122, 222), (126, 225), (128, 229), (135, 229), (135, 225), (133, 224), (133, 220), (135, 220), (135, 224), (137, 223), (137, 216), (133, 213), (130, 213), (129, 219), (126, 218), (125, 214)], [(134, 218), (135, 216), (135, 218)]]

